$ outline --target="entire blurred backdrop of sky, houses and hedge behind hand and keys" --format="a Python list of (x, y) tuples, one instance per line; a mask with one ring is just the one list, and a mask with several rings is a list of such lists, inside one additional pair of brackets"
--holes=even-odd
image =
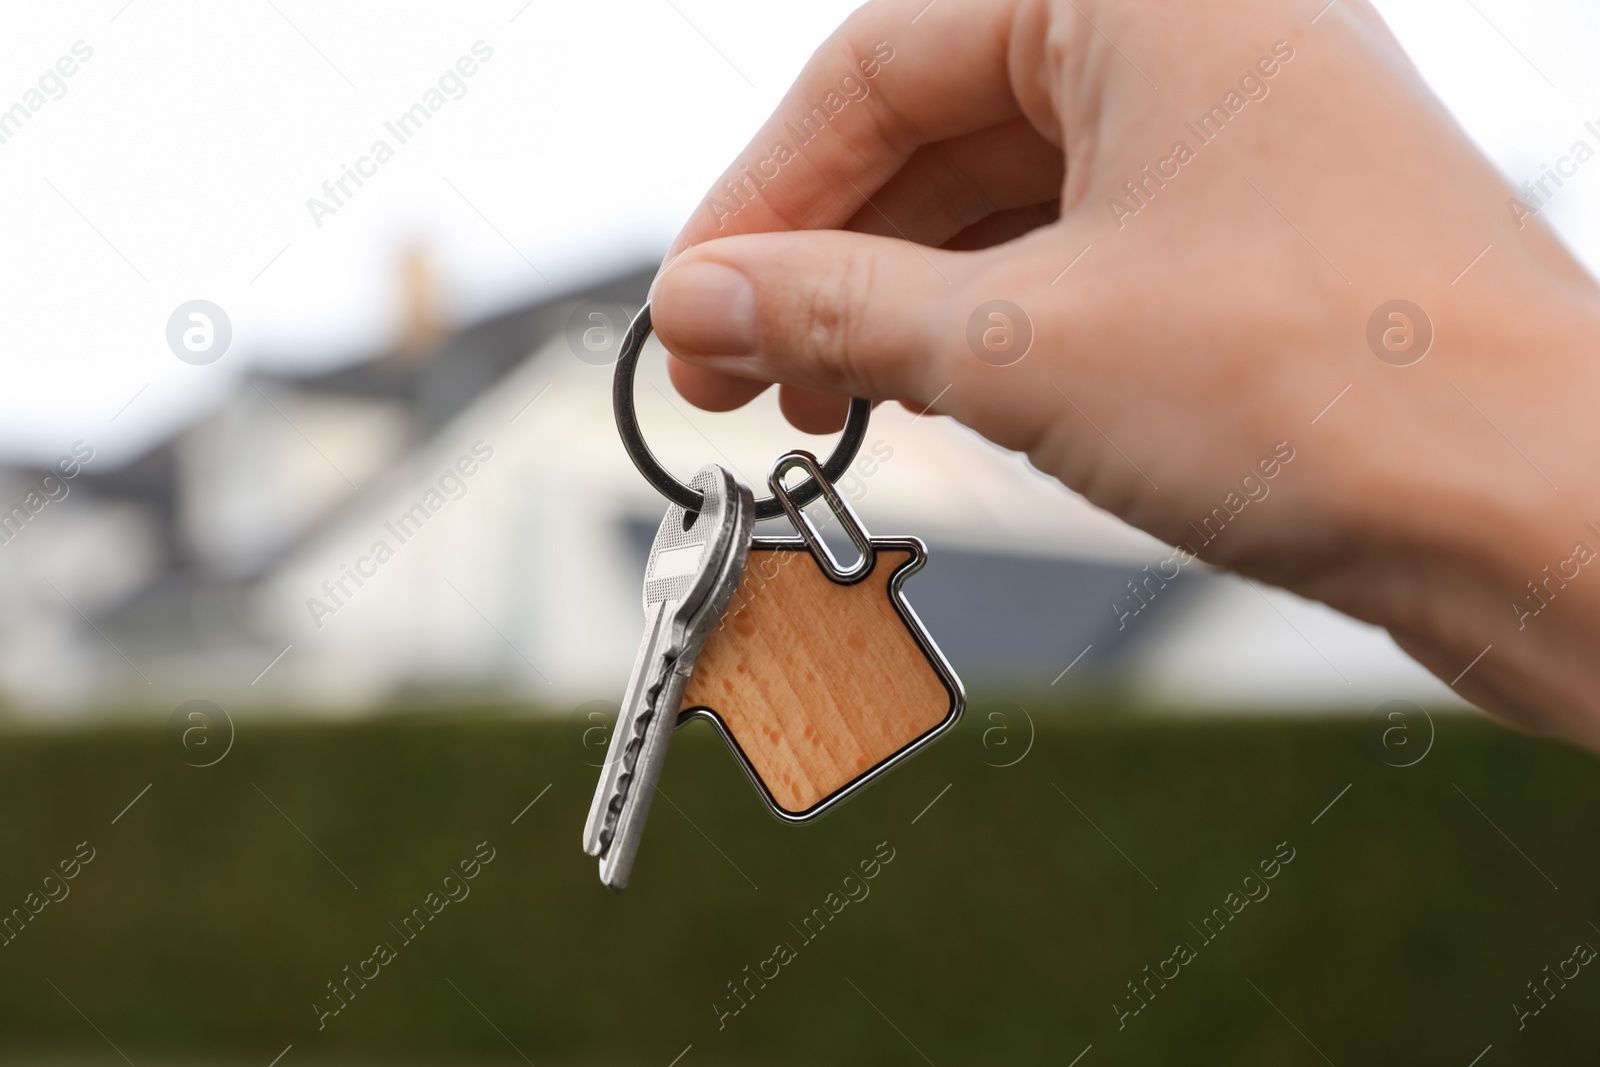
[[(616, 440), (616, 341), (851, 6), (8, 13), (0, 1056), (1592, 1056), (1600, 979), (1506, 1008), (1554, 1001), (1541, 968), (1600, 942), (1587, 757), (1474, 721), (1381, 630), (1200, 565), (1128, 614), (1166, 545), (899, 408), (842, 490), (931, 545), (907, 593), (966, 721), (805, 829), (686, 728), (638, 885), (598, 886), (579, 829), (664, 507)], [(1514, 186), (1600, 136), (1592, 5), (1379, 8)], [(1597, 174), (1541, 210), (1590, 269)], [(680, 474), (758, 485), (829, 446), (771, 397), (690, 408), (654, 346), (638, 406)], [(723, 1017), (885, 840), (888, 899)], [(1213, 976), (1123, 1014), (1285, 840), (1306, 859), (1280, 902), (1184, 968)], [(482, 904), (405, 949), (395, 925), (480, 841)], [(374, 939), (398, 960), (344, 1005), (330, 984)]]

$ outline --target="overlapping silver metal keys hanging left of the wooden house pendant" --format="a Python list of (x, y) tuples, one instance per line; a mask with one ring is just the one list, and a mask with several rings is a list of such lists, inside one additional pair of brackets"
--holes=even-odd
[(683, 686), (739, 585), (755, 528), (750, 488), (725, 469), (707, 464), (690, 486), (704, 496), (701, 510), (690, 517), (670, 506), (650, 547), (645, 640), (584, 825), (584, 851), (600, 857), (600, 881), (618, 891), (634, 869)]

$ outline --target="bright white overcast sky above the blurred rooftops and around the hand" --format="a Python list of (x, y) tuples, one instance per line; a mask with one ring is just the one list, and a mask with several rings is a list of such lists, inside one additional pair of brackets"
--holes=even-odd
[[(94, 0), (10, 11), (0, 109), (27, 102), (42, 77), (45, 90), (0, 144), (0, 456), (48, 458), (75, 438), (128, 453), (253, 362), (323, 363), (382, 344), (410, 243), (429, 246), (459, 320), (659, 256), (851, 6)], [(1592, 0), (1379, 6), (1514, 181), (1565, 154), (1584, 122), (1600, 125)], [(442, 75), (445, 106), (400, 144), (384, 123)], [(314, 219), (307, 198), (379, 138), (394, 158), (365, 163), (363, 184), (347, 181), (354, 194)], [(1600, 269), (1600, 162), (1546, 218)], [(229, 352), (210, 365), (168, 349), (168, 318), (192, 299), (232, 322)]]

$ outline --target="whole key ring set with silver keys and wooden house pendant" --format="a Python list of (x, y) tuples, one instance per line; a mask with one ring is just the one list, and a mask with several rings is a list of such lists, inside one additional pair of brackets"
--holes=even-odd
[[(832, 485), (861, 448), (870, 405), (851, 402), (826, 464), (803, 451), (781, 456), (770, 498), (755, 501), (717, 464), (683, 485), (651, 454), (634, 411), (650, 333), (646, 304), (622, 341), (613, 406), (629, 456), (672, 506), (650, 549), (645, 638), (584, 827), (584, 851), (618, 891), (677, 726), (709, 720), (768, 808), (805, 822), (950, 729), (966, 702), (901, 592), (926, 547), (867, 536)], [(810, 478), (790, 488), (797, 469)], [(848, 568), (802, 510), (818, 498), (859, 553)], [(798, 536), (752, 537), (758, 518), (779, 515)]]

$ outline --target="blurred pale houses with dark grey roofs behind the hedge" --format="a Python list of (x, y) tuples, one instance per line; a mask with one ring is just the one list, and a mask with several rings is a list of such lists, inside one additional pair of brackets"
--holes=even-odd
[[(610, 360), (651, 274), (442, 333), (408, 262), (389, 350), (256, 374), (133, 462), (90, 461), (0, 544), (3, 699), (618, 699), (664, 501), (618, 442)], [(717, 461), (760, 486), (779, 453), (830, 446), (771, 395), (691, 411), (656, 346), (637, 398), (685, 474)], [(46, 474), (0, 472), (0, 502)], [(1198, 566), (1128, 616), (1114, 605), (1170, 549), (947, 419), (880, 408), (840, 488), (874, 533), (931, 545), (907, 595), (970, 688), (1117, 683), (1200, 709), (1451, 699), (1381, 630)]]

